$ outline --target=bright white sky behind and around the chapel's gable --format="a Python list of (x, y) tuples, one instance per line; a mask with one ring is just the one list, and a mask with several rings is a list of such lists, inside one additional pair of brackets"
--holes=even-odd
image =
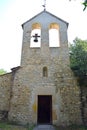
[[(68, 41), (75, 37), (87, 40), (87, 10), (83, 0), (46, 0), (46, 10), (67, 21)], [(0, 69), (7, 72), (20, 66), (21, 25), (43, 11), (44, 0), (0, 0)]]

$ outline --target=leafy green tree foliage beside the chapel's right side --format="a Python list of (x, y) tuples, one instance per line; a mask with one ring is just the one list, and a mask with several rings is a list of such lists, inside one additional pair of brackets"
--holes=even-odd
[(87, 76), (87, 41), (76, 38), (70, 45), (70, 67), (76, 76)]

